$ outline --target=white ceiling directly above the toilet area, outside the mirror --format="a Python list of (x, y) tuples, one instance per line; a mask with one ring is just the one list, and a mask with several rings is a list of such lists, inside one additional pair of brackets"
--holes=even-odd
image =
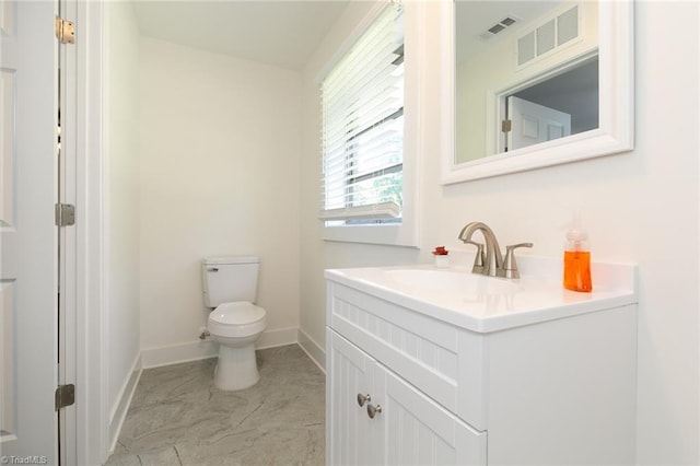
[(351, 0), (135, 1), (140, 33), (302, 70)]

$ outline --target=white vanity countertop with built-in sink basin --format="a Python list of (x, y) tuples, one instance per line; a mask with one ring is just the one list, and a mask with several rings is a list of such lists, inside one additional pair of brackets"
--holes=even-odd
[(329, 282), (479, 333), (637, 302), (634, 266), (594, 264), (593, 292), (576, 293), (561, 286), (560, 259), (528, 257), (523, 264), (530, 273), (521, 270), (517, 280), (476, 275), (466, 267), (433, 266), (330, 269), (325, 275)]

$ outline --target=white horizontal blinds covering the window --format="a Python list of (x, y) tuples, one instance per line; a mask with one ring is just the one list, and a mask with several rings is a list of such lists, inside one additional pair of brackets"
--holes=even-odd
[(322, 86), (324, 220), (401, 215), (404, 18), (390, 3)]

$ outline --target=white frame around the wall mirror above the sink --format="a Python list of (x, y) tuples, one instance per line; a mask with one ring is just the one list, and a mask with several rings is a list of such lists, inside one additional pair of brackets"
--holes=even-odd
[(599, 19), (598, 128), (512, 152), (455, 164), (455, 3), (443, 1), (442, 184), (488, 178), (584, 159), (631, 151), (634, 148), (633, 0), (602, 0)]

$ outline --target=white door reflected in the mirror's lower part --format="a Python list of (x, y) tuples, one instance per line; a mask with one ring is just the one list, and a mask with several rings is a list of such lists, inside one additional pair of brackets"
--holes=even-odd
[(511, 130), (508, 150), (525, 148), (571, 135), (571, 115), (511, 95), (508, 97)]

